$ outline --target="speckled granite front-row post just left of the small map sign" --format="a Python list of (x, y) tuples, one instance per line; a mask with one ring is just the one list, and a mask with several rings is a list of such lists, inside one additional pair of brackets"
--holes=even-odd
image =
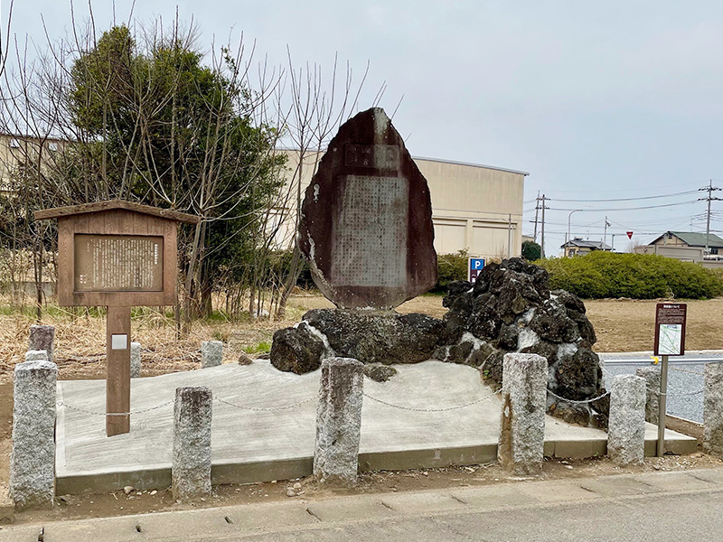
[(610, 392), (607, 455), (620, 465), (640, 465), (644, 453), (645, 379), (617, 375)]

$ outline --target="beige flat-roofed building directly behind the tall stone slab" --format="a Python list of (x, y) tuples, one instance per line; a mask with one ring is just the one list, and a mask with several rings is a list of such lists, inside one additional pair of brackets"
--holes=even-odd
[[(286, 248), (294, 239), (297, 198), (304, 199), (324, 153), (305, 154), (299, 173), (298, 151), (280, 152), (288, 156), (289, 180), (274, 226), (277, 246)], [(435, 158), (415, 157), (414, 162), (429, 184), (437, 254), (467, 250), (475, 257), (520, 256), (524, 179), (529, 173)]]

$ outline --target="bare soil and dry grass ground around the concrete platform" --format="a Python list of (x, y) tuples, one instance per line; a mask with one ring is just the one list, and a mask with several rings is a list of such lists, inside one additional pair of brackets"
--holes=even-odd
[[(656, 303), (659, 301), (587, 301), (587, 314), (597, 334), (595, 350), (651, 350)], [(723, 298), (687, 303), (689, 320), (686, 347), (689, 350), (723, 349), (723, 336), (718, 331), (718, 322), (723, 319)], [(227, 343), (224, 349), (225, 362), (237, 360), (244, 351), (258, 353), (268, 350), (274, 331), (298, 322), (306, 310), (331, 306), (321, 295), (298, 294), (292, 296), (287, 317), (283, 321), (197, 323), (194, 324), (189, 339), (183, 341), (176, 340), (173, 322), (164, 315), (138, 315), (133, 322), (133, 337), (143, 345), (143, 376), (200, 368), (200, 343), (205, 340), (217, 339)], [(442, 306), (442, 296), (428, 294), (401, 305), (399, 312), (427, 313), (441, 318), (446, 309)], [(0, 315), (0, 491), (6, 491), (9, 473), (13, 415), (12, 371), (14, 364), (22, 360), (32, 323), (31, 319), (23, 315)], [(104, 319), (74, 318), (70, 314), (56, 313), (49, 316), (46, 323), (56, 326), (57, 348), (54, 361), (58, 363), (61, 379), (104, 378)], [(678, 427), (676, 429), (680, 430)], [(723, 466), (723, 461), (701, 452), (683, 457), (648, 458), (642, 467), (624, 470), (605, 458), (584, 461), (546, 458), (543, 477), (576, 478), (623, 471), (665, 471), (712, 466)], [(510, 477), (496, 464), (484, 464), (428, 471), (368, 472), (362, 474), (359, 486), (351, 491), (412, 491), (516, 480), (519, 479)], [(298, 486), (296, 489), (295, 484)], [(289, 498), (324, 498), (339, 492), (319, 490), (311, 479), (219, 486), (214, 488), (214, 491), (215, 494), (208, 500), (184, 504), (174, 502), (170, 491), (157, 491), (154, 494), (150, 491), (131, 491), (128, 494), (117, 491), (59, 496), (55, 509), (18, 514), (16, 521), (105, 517)], [(288, 497), (287, 491), (294, 491), (295, 497)]]

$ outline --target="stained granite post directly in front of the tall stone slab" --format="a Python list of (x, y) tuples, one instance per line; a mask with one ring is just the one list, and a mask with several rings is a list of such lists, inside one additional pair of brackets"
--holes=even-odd
[(351, 358), (322, 361), (314, 450), (314, 477), (320, 484), (356, 484), (363, 390), (361, 361)]

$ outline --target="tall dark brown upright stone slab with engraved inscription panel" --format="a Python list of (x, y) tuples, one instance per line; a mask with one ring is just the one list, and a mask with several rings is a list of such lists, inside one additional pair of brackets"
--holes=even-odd
[(427, 180), (383, 109), (332, 139), (305, 192), (299, 246), (339, 307), (392, 309), (437, 282)]

